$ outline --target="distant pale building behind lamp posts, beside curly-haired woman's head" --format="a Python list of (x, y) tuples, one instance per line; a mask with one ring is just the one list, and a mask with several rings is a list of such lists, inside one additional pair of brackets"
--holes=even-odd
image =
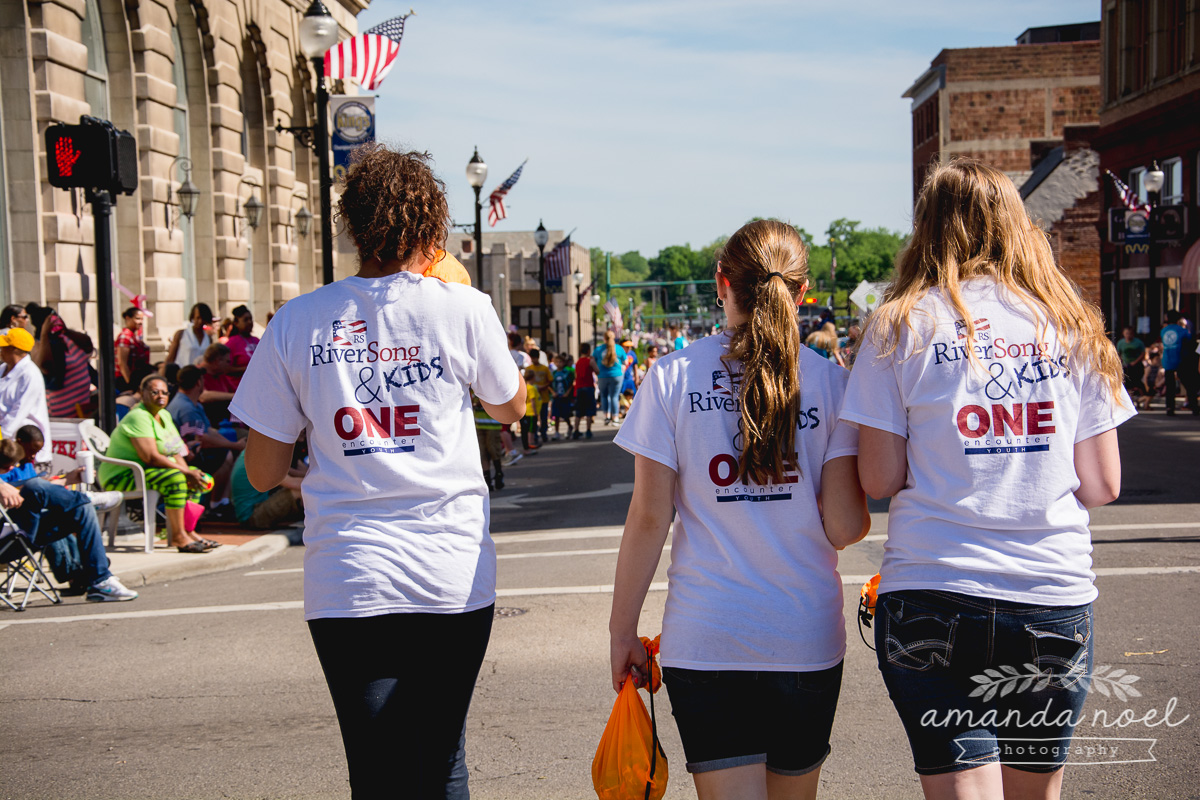
[[(563, 241), (565, 233), (550, 230), (546, 243), (548, 254)], [(454, 230), (446, 240), (446, 252), (475, 272), (475, 240), (470, 231)], [(484, 269), (475, 288), (492, 297), (500, 321), (511, 330), (516, 325), (522, 336), (541, 337), (540, 296), (538, 291), (538, 245), (532, 230), (514, 233), (484, 233)], [(580, 275), (578, 279), (574, 275)], [(592, 291), (592, 255), (588, 248), (571, 242), (570, 272), (563, 279), (563, 290), (546, 294), (550, 312), (546, 338), (542, 343), (552, 350), (578, 354), (580, 332), (583, 342), (595, 336)], [(593, 289), (594, 291), (594, 289)]]

